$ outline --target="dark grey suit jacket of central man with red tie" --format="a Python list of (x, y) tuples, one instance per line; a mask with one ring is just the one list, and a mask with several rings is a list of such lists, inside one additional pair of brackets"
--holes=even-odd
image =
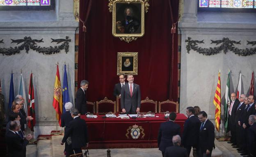
[(132, 112), (136, 112), (137, 108), (140, 108), (140, 88), (138, 84), (133, 83), (133, 95), (130, 95), (129, 83), (126, 83), (121, 89), (121, 108), (125, 108), (126, 112), (132, 109)]

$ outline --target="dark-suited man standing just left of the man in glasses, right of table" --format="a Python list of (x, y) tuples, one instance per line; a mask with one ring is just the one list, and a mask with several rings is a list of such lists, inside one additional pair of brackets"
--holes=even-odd
[(191, 147), (197, 148), (199, 138), (200, 120), (194, 116), (194, 107), (187, 107), (187, 120), (184, 123), (182, 143), (187, 149), (187, 155), (190, 155)]

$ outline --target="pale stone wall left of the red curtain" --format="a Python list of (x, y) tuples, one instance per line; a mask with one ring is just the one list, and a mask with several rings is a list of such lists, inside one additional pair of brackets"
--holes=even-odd
[[(11, 43), (11, 39), (23, 39), (30, 36), (32, 39), (41, 40), (36, 44), (41, 47), (58, 46), (53, 39), (65, 39), (69, 36), (69, 52), (64, 50), (56, 54), (42, 54), (33, 50), (25, 50), (15, 55), (0, 55), (0, 79), (2, 93), (5, 95), (6, 107), (9, 100), (9, 84), (11, 71), (14, 73), (14, 94), (18, 94), (20, 73), (22, 69), (25, 90), (28, 93), (30, 73), (33, 73), (36, 126), (34, 137), (40, 134), (49, 134), (56, 130), (56, 115), (52, 106), (53, 88), (56, 76), (56, 64), (59, 62), (60, 80), (63, 82), (64, 62), (68, 73), (69, 97), (74, 102), (75, 88), (75, 30), (78, 22), (73, 15), (72, 0), (55, 0), (55, 11), (0, 11), (3, 18), (0, 21), (1, 48), (19, 46)], [(32, 18), (25, 16), (32, 14)], [(8, 15), (7, 15), (8, 14)], [(34, 17), (36, 16), (36, 17)], [(27, 94), (28, 99), (28, 94)], [(8, 107), (7, 107), (8, 108)]]

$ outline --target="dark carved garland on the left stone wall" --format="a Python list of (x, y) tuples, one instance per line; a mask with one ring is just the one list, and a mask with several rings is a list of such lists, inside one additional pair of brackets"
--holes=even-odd
[[(17, 39), (13, 40), (11, 39), (11, 43), (17, 43), (21, 44), (20, 46), (15, 47), (9, 47), (9, 48), (2, 48), (0, 47), (0, 54), (2, 55), (15, 55), (16, 53), (20, 53), (22, 50), (26, 50), (26, 53), (30, 51), (30, 49), (37, 51), (38, 53), (43, 53), (47, 55), (59, 53), (61, 50), (65, 50), (66, 53), (69, 51), (69, 42), (71, 42), (71, 39), (69, 39), (68, 36), (66, 36), (66, 39), (53, 39), (51, 38), (52, 42), (56, 42), (56, 44), (62, 43), (58, 46), (49, 46), (49, 47), (40, 47), (37, 45), (39, 42), (43, 42), (43, 38), (41, 40), (33, 39), (31, 37), (25, 36), (23, 39)], [(0, 40), (0, 43), (4, 43), (3, 39)]]

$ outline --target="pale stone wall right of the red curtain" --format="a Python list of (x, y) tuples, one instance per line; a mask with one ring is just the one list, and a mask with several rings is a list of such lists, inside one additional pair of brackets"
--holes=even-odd
[[(180, 111), (185, 113), (187, 106), (200, 106), (201, 110), (214, 119), (215, 106), (213, 98), (217, 86), (218, 72), (221, 71), (222, 115), (225, 97), (227, 74), (231, 70), (231, 92), (237, 91), (239, 73), (242, 72), (242, 93), (248, 95), (251, 73), (256, 71), (256, 54), (238, 56), (228, 51), (216, 55), (202, 55), (191, 50), (187, 53), (188, 37), (192, 40), (203, 40), (198, 44), (202, 48), (215, 47), (210, 40), (241, 41), (234, 44), (239, 49), (252, 48), (248, 41), (256, 40), (255, 13), (221, 13), (197, 12), (197, 0), (184, 0), (184, 13), (179, 22), (181, 34), (181, 95)], [(219, 46), (219, 45), (217, 45)]]

